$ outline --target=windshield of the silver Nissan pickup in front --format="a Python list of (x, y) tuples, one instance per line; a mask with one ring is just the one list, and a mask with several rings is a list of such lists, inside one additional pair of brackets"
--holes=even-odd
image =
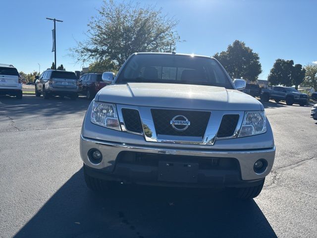
[(232, 89), (216, 60), (183, 55), (138, 54), (118, 75), (116, 83), (149, 82), (210, 85)]

